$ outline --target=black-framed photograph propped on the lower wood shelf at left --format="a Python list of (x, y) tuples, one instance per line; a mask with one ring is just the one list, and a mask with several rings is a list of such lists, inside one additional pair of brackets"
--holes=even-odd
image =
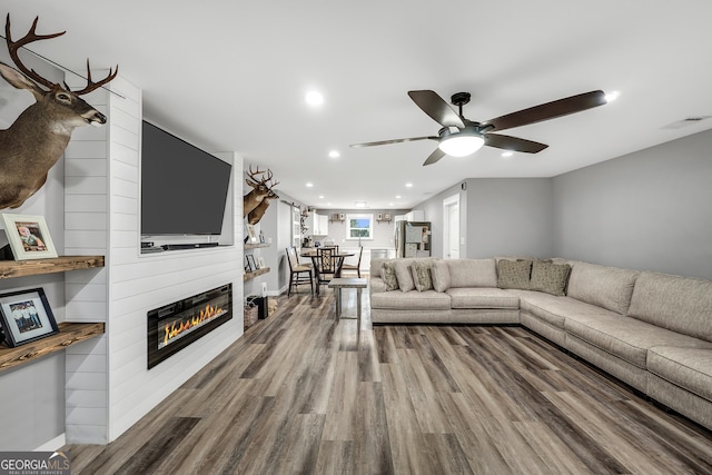
[(41, 288), (1, 294), (0, 324), (10, 347), (59, 333), (57, 320)]

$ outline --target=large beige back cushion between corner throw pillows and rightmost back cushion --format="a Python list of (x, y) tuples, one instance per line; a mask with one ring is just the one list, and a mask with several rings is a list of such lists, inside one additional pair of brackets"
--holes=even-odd
[(631, 305), (637, 270), (574, 261), (568, 278), (568, 297), (625, 315)]

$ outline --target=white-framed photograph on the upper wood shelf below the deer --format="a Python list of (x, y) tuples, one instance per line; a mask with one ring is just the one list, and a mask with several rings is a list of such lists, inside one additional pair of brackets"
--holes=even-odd
[(14, 260), (57, 257), (55, 244), (43, 216), (12, 215), (3, 212), (4, 232)]

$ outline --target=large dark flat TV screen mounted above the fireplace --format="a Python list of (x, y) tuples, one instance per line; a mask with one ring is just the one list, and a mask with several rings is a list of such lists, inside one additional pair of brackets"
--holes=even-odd
[(219, 235), (233, 166), (144, 121), (141, 235)]

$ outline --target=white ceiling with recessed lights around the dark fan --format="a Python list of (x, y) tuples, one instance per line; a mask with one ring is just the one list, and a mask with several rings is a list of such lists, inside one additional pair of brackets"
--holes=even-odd
[[(147, 119), (210, 151), (237, 151), (246, 168), (270, 168), (279, 190), (318, 208), (354, 208), (356, 200), (411, 208), (465, 178), (556, 176), (712, 127), (666, 128), (712, 116), (706, 0), (3, 6), (13, 37), (36, 16), (39, 33), (67, 30), (31, 50), (75, 71), (87, 57), (95, 69), (118, 63), (144, 90)], [(313, 88), (325, 96), (322, 108), (304, 102)], [(348, 147), (437, 135), (439, 126), (408, 98), (413, 89), (447, 101), (468, 91), (464, 115), (477, 121), (595, 89), (621, 97), (506, 131), (550, 145), (537, 155), (505, 159), (485, 147), (423, 167), (434, 141)], [(340, 158), (329, 158), (332, 149)]]

